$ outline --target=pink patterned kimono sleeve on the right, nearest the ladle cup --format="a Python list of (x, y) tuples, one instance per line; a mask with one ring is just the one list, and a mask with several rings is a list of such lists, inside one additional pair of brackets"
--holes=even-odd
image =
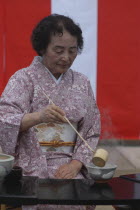
[[(100, 112), (94, 99), (93, 91), (88, 82), (88, 97), (86, 99), (86, 114), (79, 122), (78, 132), (86, 140), (88, 145), (95, 150), (100, 136)], [(86, 166), (92, 161), (93, 152), (85, 145), (85, 143), (77, 137), (72, 159), (79, 160)]]

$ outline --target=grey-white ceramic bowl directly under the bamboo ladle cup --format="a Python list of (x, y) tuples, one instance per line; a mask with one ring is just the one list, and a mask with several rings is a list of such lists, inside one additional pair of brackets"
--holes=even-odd
[(95, 166), (93, 163), (87, 165), (88, 173), (95, 181), (107, 181), (114, 176), (117, 165), (106, 163), (104, 167)]

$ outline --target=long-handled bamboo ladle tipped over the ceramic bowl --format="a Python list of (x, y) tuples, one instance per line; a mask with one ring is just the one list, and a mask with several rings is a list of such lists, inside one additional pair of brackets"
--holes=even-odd
[[(40, 88), (41, 89), (41, 88)], [(49, 100), (51, 104), (54, 104), (53, 101), (48, 97), (48, 95), (43, 91), (43, 94), (46, 96), (46, 98)], [(71, 122), (68, 120), (66, 116), (64, 116), (65, 120), (68, 122), (68, 124), (73, 128), (73, 130), (77, 133), (77, 135), (80, 137), (82, 141), (84, 141), (85, 145), (93, 152), (93, 158), (92, 162), (94, 165), (103, 167), (106, 164), (106, 161), (108, 159), (108, 152), (105, 149), (97, 149), (96, 152), (88, 145), (86, 140), (80, 135), (80, 133), (75, 129), (75, 127), (71, 124)]]

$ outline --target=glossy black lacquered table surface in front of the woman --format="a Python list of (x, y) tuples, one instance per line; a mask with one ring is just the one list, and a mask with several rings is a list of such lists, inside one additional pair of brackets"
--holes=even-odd
[[(126, 175), (140, 180), (140, 174)], [(125, 178), (125, 177), (124, 177)], [(80, 179), (38, 179), (23, 177), (0, 186), (0, 203), (17, 205), (137, 205), (140, 204), (140, 181), (113, 178), (107, 183)]]

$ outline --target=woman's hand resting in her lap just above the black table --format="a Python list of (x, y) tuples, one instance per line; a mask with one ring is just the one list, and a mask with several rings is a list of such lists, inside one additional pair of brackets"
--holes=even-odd
[(57, 179), (73, 179), (82, 168), (82, 163), (78, 160), (72, 160), (68, 164), (60, 166), (55, 174)]

